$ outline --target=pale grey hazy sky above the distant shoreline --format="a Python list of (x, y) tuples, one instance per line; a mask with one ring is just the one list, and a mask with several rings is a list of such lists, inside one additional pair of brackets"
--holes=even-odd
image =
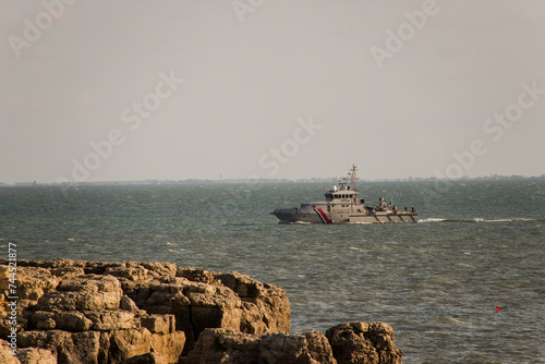
[(543, 0), (2, 1), (0, 182), (545, 173)]

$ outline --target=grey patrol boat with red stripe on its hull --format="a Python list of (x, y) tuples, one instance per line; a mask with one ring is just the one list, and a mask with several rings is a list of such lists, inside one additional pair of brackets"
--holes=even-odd
[(348, 177), (326, 191), (326, 201), (301, 204), (293, 208), (277, 208), (274, 210), (279, 222), (306, 223), (389, 223), (417, 222), (419, 214), (414, 207), (398, 210), (392, 202), (387, 205), (384, 197), (378, 205), (367, 206), (359, 198), (355, 185), (358, 166), (352, 165)]

